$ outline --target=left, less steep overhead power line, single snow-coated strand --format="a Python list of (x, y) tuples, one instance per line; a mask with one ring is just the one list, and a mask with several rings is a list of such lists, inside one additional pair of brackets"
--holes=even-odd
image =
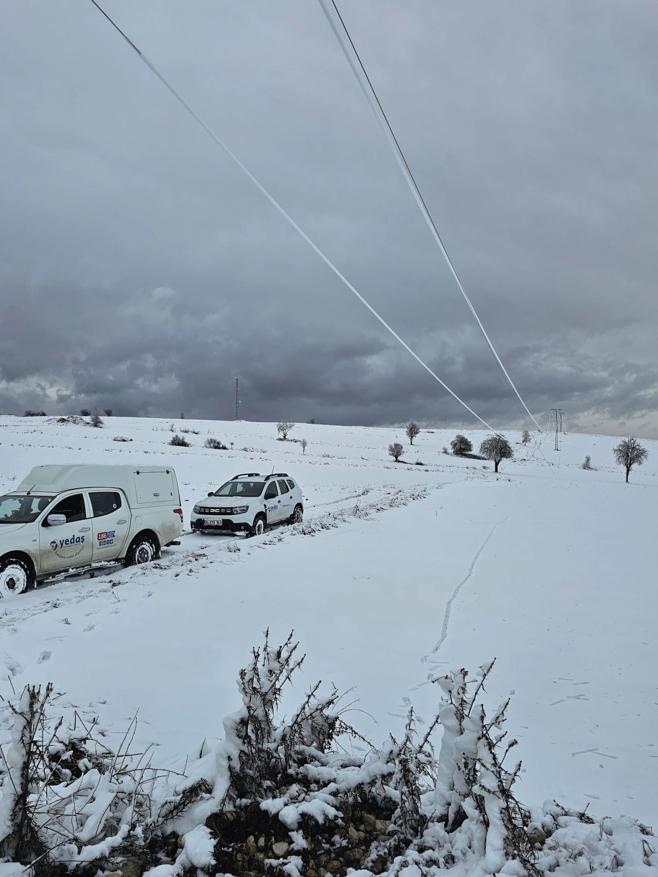
[(206, 132), (206, 134), (208, 134), (215, 141), (215, 143), (217, 143), (218, 146), (221, 146), (221, 148), (229, 156), (229, 158), (231, 158), (238, 165), (240, 170), (244, 174), (247, 175), (247, 177), (251, 180), (251, 182), (254, 183), (254, 186), (256, 187), (256, 189), (258, 189), (261, 192), (261, 194), (264, 195), (268, 199), (268, 202), (271, 203), (272, 206), (275, 207), (275, 209), (279, 211), (279, 213), (281, 213), (283, 218), (288, 223), (290, 223), (290, 225), (292, 225), (292, 227), (295, 229), (295, 231), (306, 241), (306, 243), (309, 246), (311, 246), (311, 248), (315, 251), (315, 253), (318, 253), (318, 256), (320, 257), (321, 260), (323, 260), (325, 262), (325, 265), (327, 265), (328, 267), (330, 267), (332, 269), (333, 273), (337, 277), (339, 277), (343, 283), (345, 283), (345, 285), (347, 286), (347, 289), (349, 289), (350, 292), (354, 293), (354, 296), (356, 296), (359, 299), (361, 304), (363, 304), (364, 307), (368, 308), (370, 313), (374, 317), (376, 317), (376, 319), (379, 320), (379, 322), (383, 325), (383, 327), (388, 332), (390, 332), (390, 334), (393, 336), (393, 338), (396, 339), (404, 347), (404, 349), (407, 351), (407, 353), (411, 353), (411, 356), (414, 358), (414, 360), (416, 360), (423, 368), (425, 368), (426, 371), (433, 376), (435, 381), (439, 381), (441, 387), (443, 387), (443, 389), (446, 389), (447, 392), (451, 396), (453, 396), (454, 399), (456, 399), (458, 403), (463, 405), (464, 408), (470, 414), (472, 414), (473, 417), (476, 418), (476, 420), (479, 420), (481, 424), (484, 424), (487, 427), (487, 429), (494, 431), (493, 426), (490, 426), (490, 424), (488, 424), (486, 422), (486, 420), (483, 420), (482, 417), (477, 415), (473, 409), (468, 407), (468, 405), (463, 401), (463, 399), (460, 399), (460, 397), (457, 396), (457, 394), (454, 393), (453, 390), (451, 390), (447, 386), (446, 383), (441, 381), (439, 375), (434, 374), (433, 370), (428, 365), (426, 365), (426, 363), (423, 360), (420, 359), (420, 357), (418, 356), (418, 353), (414, 353), (414, 351), (411, 350), (411, 347), (406, 343), (406, 341), (401, 339), (400, 336), (397, 334), (397, 332), (395, 332), (395, 330), (392, 329), (390, 327), (390, 325), (386, 322), (386, 320), (384, 320), (384, 318), (381, 317), (377, 313), (375, 308), (373, 308), (372, 305), (368, 304), (368, 302), (365, 300), (365, 298), (363, 296), (361, 296), (361, 293), (357, 292), (357, 290), (354, 289), (354, 286), (352, 286), (352, 284), (347, 280), (347, 278), (340, 273), (339, 269), (333, 264), (333, 262), (327, 256), (325, 256), (325, 253), (323, 253), (322, 250), (320, 250), (320, 248), (313, 243), (311, 238), (309, 238), (309, 236), (305, 232), (302, 231), (302, 229), (299, 227), (299, 225), (297, 225), (297, 223), (290, 216), (290, 214), (287, 213), (285, 210), (283, 210), (283, 207), (281, 206), (281, 204), (278, 203), (278, 201), (276, 201), (275, 198), (269, 194), (268, 190), (265, 189), (265, 187), (262, 186), (260, 182), (258, 182), (258, 180), (255, 178), (255, 176), (251, 173), (251, 171), (247, 170), (247, 168), (242, 164), (240, 159), (238, 159), (237, 156), (235, 156), (231, 152), (231, 150), (228, 148), (228, 146), (225, 145), (225, 142), (222, 139), (220, 139), (214, 131), (212, 131), (211, 127), (204, 122), (203, 118), (201, 118), (199, 115), (197, 115), (197, 112), (195, 112), (190, 107), (190, 104), (187, 103), (187, 101), (181, 95), (179, 95), (179, 93), (175, 90), (174, 86), (171, 85), (167, 79), (165, 79), (165, 77), (161, 74), (161, 72), (158, 70), (158, 68), (156, 68), (155, 65), (151, 61), (148, 60), (147, 56), (143, 52), (139, 51), (138, 47), (135, 46), (135, 44), (132, 42), (132, 40), (129, 39), (125, 35), (125, 33), (121, 30), (121, 28), (110, 18), (110, 16), (107, 14), (107, 12), (105, 12), (104, 9), (102, 9), (102, 7), (99, 6), (99, 4), (97, 4), (97, 0), (91, 0), (91, 3), (94, 4), (94, 6), (96, 6), (96, 8), (99, 12), (103, 13), (104, 18), (107, 18), (107, 20), (115, 28), (115, 30), (117, 30), (121, 34), (121, 36), (125, 39), (126, 43), (134, 50), (135, 53), (137, 53), (140, 61), (144, 61), (144, 63), (147, 65), (147, 68), (149, 68), (149, 70), (155, 76), (157, 76), (157, 78), (160, 80), (162, 85), (164, 85), (164, 87), (170, 92), (170, 94), (175, 97), (175, 99), (178, 101), (178, 103), (180, 103), (182, 105), (182, 107), (190, 113), (190, 116), (195, 119), (195, 121), (198, 123), (198, 125), (201, 125), (201, 127), (204, 129), (204, 132)]

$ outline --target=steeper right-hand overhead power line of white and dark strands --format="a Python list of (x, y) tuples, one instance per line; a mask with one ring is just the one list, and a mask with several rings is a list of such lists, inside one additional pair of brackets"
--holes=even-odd
[[(414, 179), (414, 176), (411, 173), (411, 168), (407, 164), (407, 160), (404, 158), (404, 153), (403, 153), (399, 143), (397, 142), (397, 137), (394, 134), (393, 129), (390, 126), (390, 122), (386, 116), (386, 113), (383, 111), (383, 106), (380, 103), (379, 98), (377, 97), (377, 93), (375, 92), (375, 88), (374, 88), (372, 82), (370, 82), (370, 78), (368, 77), (368, 73), (366, 72), (366, 68), (364, 68), (364, 66), (363, 66), (363, 62), (361, 61), (361, 57), (356, 50), (356, 46), (354, 46), (354, 42), (352, 41), (352, 38), (349, 35), (349, 31), (347, 30), (347, 26), (345, 25), (345, 22), (343, 21), (343, 18), (340, 15), (340, 11), (338, 10), (338, 7), (336, 6), (334, 0), (331, 0), (333, 10), (335, 11), (335, 13), (338, 16), (338, 19), (340, 21), (340, 27), (336, 24), (336, 21), (332, 15), (331, 11), (329, 10), (329, 6), (326, 3), (326, 0), (318, 0), (318, 2), (320, 4), (320, 6), (322, 7), (322, 10), (325, 13), (325, 16), (326, 16), (327, 21), (329, 22), (329, 25), (331, 25), (331, 28), (333, 30), (333, 33), (334, 33), (336, 39), (338, 39), (340, 47), (343, 50), (345, 57), (347, 58), (347, 62), (349, 64), (349, 66), (352, 68), (352, 72), (354, 73), (354, 76), (356, 77), (357, 82), (361, 86), (361, 91), (363, 92), (363, 95), (365, 96), (365, 98), (368, 102), (368, 106), (373, 111), (375, 118), (377, 119), (379, 124), (382, 126), (383, 132), (386, 134), (386, 137), (389, 140), (390, 148), (393, 151), (393, 154), (395, 155), (395, 157), (397, 159), (397, 164), (399, 165), (400, 170), (402, 171), (402, 173), (404, 175), (404, 179), (406, 180), (409, 188), (411, 189), (411, 194), (416, 199), (416, 202), (418, 203), (418, 207), (420, 208), (423, 216), (425, 217), (426, 223), (429, 226), (429, 229), (433, 234), (433, 238), (436, 241), (436, 243), (438, 244), (441, 253), (443, 254), (443, 258), (447, 261), (447, 266), (450, 268), (450, 271), (454, 277), (454, 280), (457, 283), (457, 286), (459, 287), (459, 289), (461, 290), (461, 295), (464, 296), (464, 299), (465, 299), (466, 303), (468, 304), (468, 308), (470, 309), (473, 316), (476, 318), (476, 322), (477, 322), (478, 326), (480, 327), (480, 331), (483, 333), (484, 340), (487, 342), (487, 345), (489, 346), (489, 349), (491, 351), (491, 354), (493, 355), (494, 360), (496, 360), (497, 367), (499, 368), (500, 373), (503, 375), (506, 385), (508, 386), (508, 388), (513, 389), (514, 393), (516, 394), (516, 396), (519, 399), (519, 402), (523, 405), (523, 407), (526, 409), (527, 413), (532, 418), (535, 426), (539, 430), (541, 430), (540, 424), (538, 424), (537, 421), (534, 419), (531, 411), (528, 409), (526, 403), (523, 401), (521, 395), (519, 394), (519, 390), (516, 389), (513, 381), (511, 380), (510, 375), (507, 374), (507, 371), (503, 365), (503, 362), (501, 361), (500, 357), (498, 356), (498, 354), (496, 352), (496, 348), (493, 346), (493, 343), (491, 342), (490, 337), (487, 334), (487, 332), (485, 332), (484, 326), (480, 320), (480, 317), (477, 316), (476, 309), (473, 307), (473, 304), (471, 303), (470, 299), (468, 298), (468, 295), (466, 294), (466, 289), (464, 289), (464, 287), (461, 283), (461, 280), (459, 279), (459, 275), (457, 275), (457, 272), (454, 268), (453, 262), (450, 259), (450, 256), (447, 254), (447, 249), (446, 249), (443, 241), (441, 240), (439, 231), (438, 231), (436, 225), (434, 224), (434, 220), (432, 218), (432, 215), (430, 214), (430, 211), (428, 210), (427, 205), (425, 203), (425, 199), (420, 194), (420, 189), (418, 189), (418, 185), (416, 183), (416, 180)], [(354, 62), (354, 57), (353, 57), (352, 53), (350, 53), (349, 49), (347, 48), (347, 43), (345, 41), (345, 37), (347, 37), (347, 40), (349, 41), (349, 45), (352, 48), (352, 52), (354, 53), (354, 57), (355, 57), (356, 61), (358, 61), (358, 65), (359, 65), (358, 68), (356, 66), (356, 63)], [(516, 402), (516, 399), (514, 401)], [(517, 407), (518, 406), (519, 406), (519, 403), (517, 402)], [(520, 408), (519, 408), (519, 413), (521, 414), (521, 417), (523, 417), (523, 420), (525, 421), (526, 426), (528, 426), (529, 424), (526, 421), (526, 417)]]

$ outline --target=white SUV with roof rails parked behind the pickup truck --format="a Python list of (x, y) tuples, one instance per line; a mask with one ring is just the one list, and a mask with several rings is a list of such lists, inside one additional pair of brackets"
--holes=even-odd
[(299, 524), (303, 517), (302, 491), (289, 474), (246, 472), (199, 501), (190, 526), (259, 536), (269, 524)]

